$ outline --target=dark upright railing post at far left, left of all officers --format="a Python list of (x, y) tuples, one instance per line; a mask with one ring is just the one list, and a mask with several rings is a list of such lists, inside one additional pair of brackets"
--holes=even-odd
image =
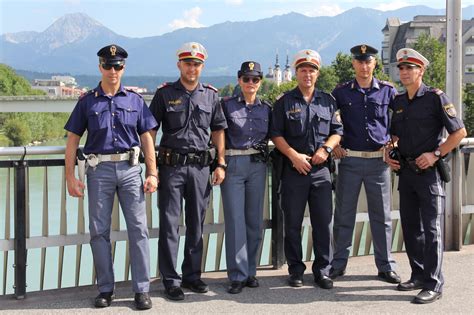
[(15, 298), (26, 294), (26, 161), (15, 167)]

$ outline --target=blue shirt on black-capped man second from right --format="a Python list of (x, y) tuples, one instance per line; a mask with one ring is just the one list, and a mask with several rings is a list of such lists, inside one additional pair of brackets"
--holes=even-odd
[(388, 82), (372, 80), (363, 89), (357, 80), (337, 86), (332, 95), (344, 125), (342, 147), (356, 151), (379, 150), (390, 139), (389, 104), (397, 90)]

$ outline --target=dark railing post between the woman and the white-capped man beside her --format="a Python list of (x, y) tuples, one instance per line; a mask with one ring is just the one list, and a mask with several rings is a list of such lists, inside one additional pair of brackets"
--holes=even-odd
[(280, 207), (279, 194), (280, 176), (274, 176), (274, 168), (270, 169), (272, 175), (272, 265), (274, 269), (280, 269), (285, 263), (283, 211)]

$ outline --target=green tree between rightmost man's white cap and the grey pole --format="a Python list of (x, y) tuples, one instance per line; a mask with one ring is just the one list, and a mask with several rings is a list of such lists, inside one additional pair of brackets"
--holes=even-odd
[(446, 45), (428, 34), (421, 34), (413, 49), (426, 57), (430, 65), (423, 75), (423, 82), (435, 88), (446, 89)]

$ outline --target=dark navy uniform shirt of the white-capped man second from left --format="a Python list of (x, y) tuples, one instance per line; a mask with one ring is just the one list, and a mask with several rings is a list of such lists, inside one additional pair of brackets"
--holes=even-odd
[(162, 125), (160, 146), (180, 153), (208, 149), (210, 131), (227, 128), (217, 90), (199, 83), (192, 92), (178, 80), (159, 87), (150, 110)]

